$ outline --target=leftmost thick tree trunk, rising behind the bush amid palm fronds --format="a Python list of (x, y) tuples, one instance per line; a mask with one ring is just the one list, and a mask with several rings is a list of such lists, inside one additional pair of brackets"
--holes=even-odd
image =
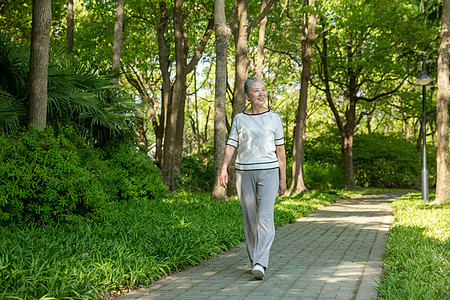
[(30, 51), (28, 124), (42, 130), (47, 124), (48, 60), (52, 24), (51, 0), (33, 0)]

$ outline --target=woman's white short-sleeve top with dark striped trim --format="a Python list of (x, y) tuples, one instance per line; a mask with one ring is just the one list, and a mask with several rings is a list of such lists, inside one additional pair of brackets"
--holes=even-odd
[(279, 168), (276, 146), (284, 145), (280, 114), (268, 110), (260, 114), (237, 114), (231, 125), (227, 145), (237, 149), (236, 170)]

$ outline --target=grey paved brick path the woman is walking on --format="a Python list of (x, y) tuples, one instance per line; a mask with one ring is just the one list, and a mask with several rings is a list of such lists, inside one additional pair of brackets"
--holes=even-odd
[(375, 299), (400, 195), (341, 200), (279, 228), (262, 281), (241, 246), (118, 299)]

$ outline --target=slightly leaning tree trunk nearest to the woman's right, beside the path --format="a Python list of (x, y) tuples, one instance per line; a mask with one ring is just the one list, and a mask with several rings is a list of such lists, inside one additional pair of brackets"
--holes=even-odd
[[(314, 1), (304, 1), (303, 6), (314, 8)], [(302, 76), (300, 86), (300, 98), (298, 101), (296, 125), (294, 131), (292, 184), (290, 193), (301, 193), (307, 190), (304, 183), (306, 118), (308, 105), (308, 85), (311, 78), (312, 46), (317, 38), (315, 34), (317, 14), (304, 14), (302, 25)]]

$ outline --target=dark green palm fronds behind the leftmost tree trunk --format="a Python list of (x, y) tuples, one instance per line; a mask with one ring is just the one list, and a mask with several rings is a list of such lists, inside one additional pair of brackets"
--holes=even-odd
[[(51, 47), (48, 67), (47, 125), (55, 132), (72, 126), (96, 145), (133, 134), (140, 107), (104, 71), (66, 58), (63, 48)], [(30, 50), (0, 32), (0, 131), (24, 129), (27, 124)]]

